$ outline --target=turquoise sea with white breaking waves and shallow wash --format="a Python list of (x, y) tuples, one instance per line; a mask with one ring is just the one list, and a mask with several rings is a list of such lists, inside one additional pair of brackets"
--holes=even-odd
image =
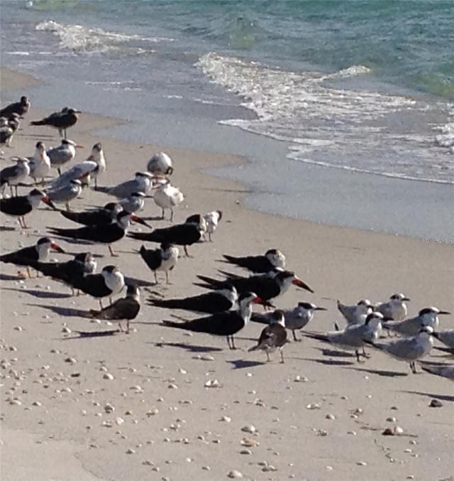
[(223, 175), (294, 193), (251, 204), (317, 220), (289, 188), (314, 172), (454, 203), (453, 25), (442, 0), (3, 0), (1, 63), (45, 80), (37, 106), (128, 119), (117, 137), (243, 155)]

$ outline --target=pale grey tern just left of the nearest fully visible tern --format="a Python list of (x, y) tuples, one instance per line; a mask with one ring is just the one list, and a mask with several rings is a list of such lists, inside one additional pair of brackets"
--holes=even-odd
[[(366, 344), (372, 344), (378, 339), (382, 330), (383, 316), (380, 313), (367, 315), (364, 324), (350, 324), (344, 330), (335, 330), (326, 334), (304, 332), (305, 337), (328, 342), (341, 347), (341, 349), (355, 350), (356, 359), (360, 362), (360, 356), (367, 357), (364, 352)], [(360, 353), (362, 347), (362, 354)]]

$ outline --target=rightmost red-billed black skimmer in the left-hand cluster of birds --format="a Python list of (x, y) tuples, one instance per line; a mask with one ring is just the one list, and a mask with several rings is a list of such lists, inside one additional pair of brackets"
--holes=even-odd
[(109, 244), (109, 252), (111, 256), (116, 256), (112, 250), (111, 244), (123, 239), (130, 224), (130, 220), (139, 222), (139, 224), (150, 227), (144, 220), (140, 219), (129, 212), (118, 212), (115, 222), (108, 225), (87, 225), (79, 227), (79, 229), (60, 229), (59, 227), (49, 227), (48, 230), (52, 234), (60, 237), (69, 237), (70, 239), (85, 240), (94, 244)]

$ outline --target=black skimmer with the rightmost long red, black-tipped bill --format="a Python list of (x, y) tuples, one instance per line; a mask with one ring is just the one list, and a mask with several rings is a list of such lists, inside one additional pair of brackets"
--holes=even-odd
[(290, 284), (294, 284), (306, 291), (314, 292), (306, 283), (301, 281), (292, 271), (271, 271), (268, 274), (256, 274), (250, 277), (240, 277), (235, 274), (221, 271), (227, 279), (213, 279), (207, 276), (197, 276), (203, 283), (195, 283), (196, 286), (205, 288), (221, 288), (231, 283), (238, 293), (253, 291), (265, 301), (270, 301), (277, 296), (282, 296)]

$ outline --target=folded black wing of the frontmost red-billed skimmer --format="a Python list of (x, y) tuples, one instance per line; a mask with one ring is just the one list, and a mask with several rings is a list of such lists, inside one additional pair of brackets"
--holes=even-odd
[(212, 335), (234, 335), (244, 327), (244, 320), (235, 311), (209, 315), (206, 318), (189, 320), (187, 323), (177, 323), (172, 320), (163, 320), (164, 325), (172, 328), (191, 330), (195, 333)]

